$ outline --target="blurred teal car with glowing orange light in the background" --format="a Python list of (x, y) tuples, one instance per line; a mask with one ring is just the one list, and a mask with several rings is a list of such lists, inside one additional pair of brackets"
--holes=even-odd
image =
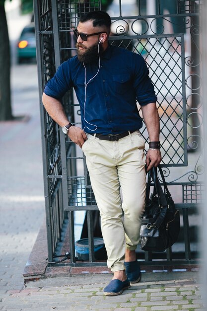
[(17, 63), (36, 60), (36, 40), (34, 22), (25, 26), (17, 42)]

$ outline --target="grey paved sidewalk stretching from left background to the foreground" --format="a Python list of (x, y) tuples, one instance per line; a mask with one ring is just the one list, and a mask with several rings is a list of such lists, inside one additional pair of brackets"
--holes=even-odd
[(45, 214), (36, 65), (12, 68), (12, 98), (14, 115), (25, 117), (0, 122), (0, 310), (204, 310), (198, 271), (142, 273), (116, 297), (103, 295), (112, 278), (106, 267), (51, 268), (47, 278), (24, 286)]

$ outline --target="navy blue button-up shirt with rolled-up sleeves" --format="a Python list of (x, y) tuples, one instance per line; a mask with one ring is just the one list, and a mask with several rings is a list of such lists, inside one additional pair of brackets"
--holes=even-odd
[(98, 61), (85, 64), (85, 67), (86, 79), (83, 63), (77, 56), (70, 58), (58, 68), (44, 92), (61, 99), (74, 87), (80, 104), (82, 128), (86, 133), (108, 135), (140, 129), (142, 120), (136, 99), (139, 105), (157, 100), (144, 59), (136, 53), (109, 45), (101, 54), (99, 72)]

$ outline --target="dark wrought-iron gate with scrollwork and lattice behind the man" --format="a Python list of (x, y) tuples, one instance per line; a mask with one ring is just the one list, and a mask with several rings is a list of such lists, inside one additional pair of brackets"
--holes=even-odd
[[(199, 209), (204, 191), (201, 0), (34, 0), (48, 262), (59, 264), (57, 255), (65, 249), (70, 253), (66, 265), (106, 264), (94, 255), (94, 215), (98, 209), (84, 156), (48, 116), (41, 102), (47, 81), (62, 62), (76, 53), (72, 30), (80, 14), (100, 9), (107, 10), (112, 18), (110, 43), (141, 54), (149, 68), (158, 97), (161, 164), (181, 214), (178, 242), (163, 253), (137, 249), (140, 264), (151, 265), (154, 260), (156, 265), (198, 263), (198, 227), (202, 224)], [(69, 120), (81, 126), (73, 91), (64, 96), (63, 105)], [(144, 127), (141, 130), (147, 151), (147, 132)], [(84, 213), (89, 260), (80, 263), (75, 241), (81, 228), (77, 220)]]

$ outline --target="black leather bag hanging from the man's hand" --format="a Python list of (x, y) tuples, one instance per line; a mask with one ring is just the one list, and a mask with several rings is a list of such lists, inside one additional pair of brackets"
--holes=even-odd
[[(157, 169), (152, 167), (148, 172), (146, 204), (140, 228), (140, 248), (156, 252), (165, 251), (172, 246), (180, 231), (180, 213), (175, 209), (161, 166), (158, 168), (164, 191), (157, 177)], [(151, 179), (154, 189), (149, 197)]]

